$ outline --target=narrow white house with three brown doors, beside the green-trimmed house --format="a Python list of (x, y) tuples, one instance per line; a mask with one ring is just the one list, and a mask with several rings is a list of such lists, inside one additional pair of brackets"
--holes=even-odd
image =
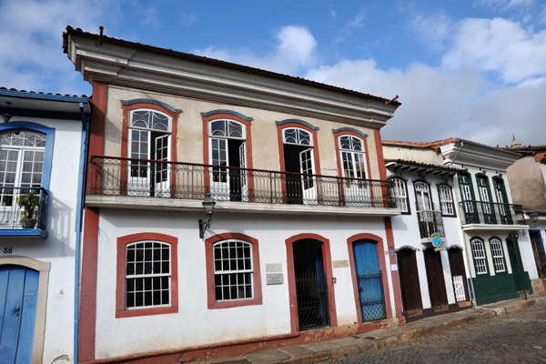
[[(392, 217), (407, 320), (470, 308), (458, 207), (460, 169), (446, 167), (435, 144), (383, 140), (389, 180), (401, 211)], [(437, 238), (440, 247), (432, 244)]]

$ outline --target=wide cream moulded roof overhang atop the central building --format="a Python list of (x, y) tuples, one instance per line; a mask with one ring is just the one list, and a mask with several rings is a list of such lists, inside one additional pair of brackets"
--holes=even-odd
[(379, 128), (400, 105), (386, 99), (247, 66), (140, 45), (68, 27), (65, 51), (93, 84), (335, 119)]

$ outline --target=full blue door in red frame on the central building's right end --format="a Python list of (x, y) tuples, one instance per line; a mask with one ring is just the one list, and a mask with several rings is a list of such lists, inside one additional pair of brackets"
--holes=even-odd
[(371, 240), (359, 240), (353, 244), (362, 321), (385, 319), (386, 316), (383, 282), (376, 247), (377, 243)]

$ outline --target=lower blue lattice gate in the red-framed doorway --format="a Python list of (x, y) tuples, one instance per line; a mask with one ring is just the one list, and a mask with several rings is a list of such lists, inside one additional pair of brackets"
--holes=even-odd
[(385, 301), (383, 299), (383, 278), (377, 274), (358, 275), (360, 307), (362, 321), (385, 319)]

